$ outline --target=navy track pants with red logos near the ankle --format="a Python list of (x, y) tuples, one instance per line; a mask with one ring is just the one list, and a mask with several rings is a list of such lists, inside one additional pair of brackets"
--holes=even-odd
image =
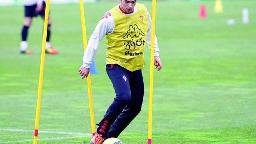
[(144, 83), (141, 70), (131, 72), (117, 65), (106, 65), (116, 97), (104, 118), (97, 124), (97, 133), (105, 139), (115, 137), (129, 125), (141, 111)]

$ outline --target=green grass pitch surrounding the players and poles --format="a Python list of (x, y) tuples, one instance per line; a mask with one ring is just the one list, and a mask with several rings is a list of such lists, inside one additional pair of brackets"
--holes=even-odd
[[(151, 13), (151, 2), (145, 3)], [(199, 19), (201, 3), (208, 18)], [(85, 5), (88, 38), (115, 2)], [(154, 73), (152, 144), (256, 143), (256, 2), (223, 0), (157, 2), (156, 34), (163, 69)], [(250, 23), (242, 23), (247, 7)], [(86, 80), (77, 73), (83, 41), (79, 4), (51, 5), (51, 44), (46, 55), (38, 143), (87, 144), (90, 113)], [(29, 29), (32, 56), (19, 54), (22, 6), (0, 7), (0, 144), (33, 143), (42, 45), (42, 19)], [(236, 24), (227, 25), (227, 19)], [(100, 75), (93, 75), (95, 123), (115, 93), (105, 70), (106, 38), (95, 57)], [(141, 113), (119, 138), (125, 144), (147, 143), (149, 57), (143, 70), (145, 98)], [(41, 132), (40, 132), (41, 131)]]

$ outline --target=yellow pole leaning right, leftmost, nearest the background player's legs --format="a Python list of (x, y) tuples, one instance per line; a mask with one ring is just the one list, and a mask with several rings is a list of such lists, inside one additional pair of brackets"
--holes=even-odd
[(41, 63), (40, 63), (40, 73), (39, 73), (39, 84), (38, 84), (38, 94), (37, 94), (37, 105), (36, 105), (36, 115), (35, 115), (34, 144), (37, 144), (37, 136), (38, 136), (38, 125), (39, 125), (39, 115), (40, 115), (44, 65), (45, 65), (45, 43), (46, 43), (46, 35), (47, 35), (49, 7), (50, 7), (50, 0), (46, 0), (44, 32), (43, 32)]

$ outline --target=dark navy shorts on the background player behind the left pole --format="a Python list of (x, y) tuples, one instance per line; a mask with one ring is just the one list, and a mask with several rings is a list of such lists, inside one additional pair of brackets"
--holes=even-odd
[(32, 6), (25, 6), (25, 17), (37, 17), (38, 15), (44, 16), (45, 15), (45, 2), (43, 1), (43, 8), (42, 11), (36, 12), (35, 11), (36, 4)]

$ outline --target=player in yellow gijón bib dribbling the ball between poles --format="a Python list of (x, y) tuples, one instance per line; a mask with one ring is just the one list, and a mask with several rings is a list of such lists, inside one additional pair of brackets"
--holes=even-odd
[[(115, 89), (116, 97), (97, 124), (97, 132), (90, 144), (101, 144), (115, 137), (129, 125), (141, 111), (144, 84), (144, 50), (151, 42), (151, 18), (143, 4), (136, 0), (120, 0), (120, 4), (106, 12), (91, 35), (83, 64), (78, 72), (87, 77), (99, 41), (106, 35), (106, 72)], [(154, 65), (161, 70), (157, 38), (154, 42)]]

